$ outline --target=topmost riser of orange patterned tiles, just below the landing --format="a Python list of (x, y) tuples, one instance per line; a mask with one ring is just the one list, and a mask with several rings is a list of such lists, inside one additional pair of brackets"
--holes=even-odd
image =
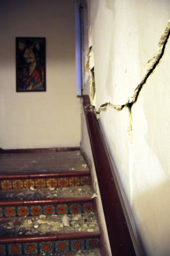
[(81, 185), (89, 185), (89, 176), (70, 176), (60, 178), (30, 178), (20, 180), (1, 180), (1, 190), (12, 189), (43, 189), (45, 187), (74, 187)]

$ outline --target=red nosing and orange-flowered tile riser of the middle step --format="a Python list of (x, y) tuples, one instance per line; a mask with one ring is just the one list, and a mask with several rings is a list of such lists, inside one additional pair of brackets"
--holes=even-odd
[(91, 198), (0, 201), (0, 217), (45, 216), (93, 212)]

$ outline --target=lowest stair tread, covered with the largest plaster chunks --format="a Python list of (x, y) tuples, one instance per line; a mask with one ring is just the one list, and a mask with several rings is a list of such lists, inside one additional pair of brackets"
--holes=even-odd
[[(68, 223), (67, 223), (68, 222)], [(68, 225), (68, 226), (67, 226)], [(43, 235), (66, 232), (97, 232), (94, 212), (35, 217), (0, 218), (0, 236)]]

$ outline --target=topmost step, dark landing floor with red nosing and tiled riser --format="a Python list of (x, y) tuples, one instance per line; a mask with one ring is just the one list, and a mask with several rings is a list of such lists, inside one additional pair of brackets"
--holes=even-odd
[(89, 185), (80, 151), (0, 154), (0, 189), (42, 189)]

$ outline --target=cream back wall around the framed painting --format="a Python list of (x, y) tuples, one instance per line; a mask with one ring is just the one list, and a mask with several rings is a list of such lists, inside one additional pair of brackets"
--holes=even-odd
[[(0, 148), (79, 146), (73, 0), (0, 1)], [(15, 92), (15, 37), (46, 38), (47, 92)]]

